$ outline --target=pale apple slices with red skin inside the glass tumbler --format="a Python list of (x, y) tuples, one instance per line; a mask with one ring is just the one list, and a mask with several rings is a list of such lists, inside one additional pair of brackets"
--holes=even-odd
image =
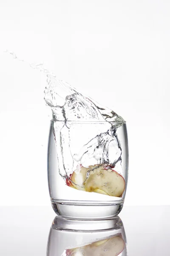
[(78, 166), (70, 178), (75, 189), (121, 197), (125, 190), (125, 180), (110, 166), (95, 165), (85, 168)]

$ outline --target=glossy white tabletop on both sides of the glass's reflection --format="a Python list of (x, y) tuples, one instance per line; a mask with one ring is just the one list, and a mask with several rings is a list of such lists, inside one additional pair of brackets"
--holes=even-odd
[[(170, 206), (124, 207), (119, 216), (129, 256), (169, 255)], [(0, 207), (0, 255), (45, 256), (54, 217), (51, 207)]]

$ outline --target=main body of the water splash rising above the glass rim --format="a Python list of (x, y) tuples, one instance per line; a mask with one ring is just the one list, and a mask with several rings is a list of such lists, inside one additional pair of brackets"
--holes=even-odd
[(113, 110), (99, 105), (90, 97), (77, 92), (70, 84), (47, 74), (45, 102), (51, 107), (53, 119), (65, 121), (107, 121), (122, 125), (125, 120)]

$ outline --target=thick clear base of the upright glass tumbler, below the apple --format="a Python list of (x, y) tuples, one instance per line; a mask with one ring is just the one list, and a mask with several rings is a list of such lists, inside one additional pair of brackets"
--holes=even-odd
[(54, 212), (58, 217), (67, 219), (108, 219), (116, 217), (121, 212), (123, 201), (93, 202), (93, 201), (57, 201), (51, 200)]

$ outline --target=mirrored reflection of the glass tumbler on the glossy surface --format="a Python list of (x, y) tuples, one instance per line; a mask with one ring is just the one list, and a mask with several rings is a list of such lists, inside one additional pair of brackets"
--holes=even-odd
[(127, 256), (127, 241), (119, 217), (102, 221), (55, 218), (47, 256)]

